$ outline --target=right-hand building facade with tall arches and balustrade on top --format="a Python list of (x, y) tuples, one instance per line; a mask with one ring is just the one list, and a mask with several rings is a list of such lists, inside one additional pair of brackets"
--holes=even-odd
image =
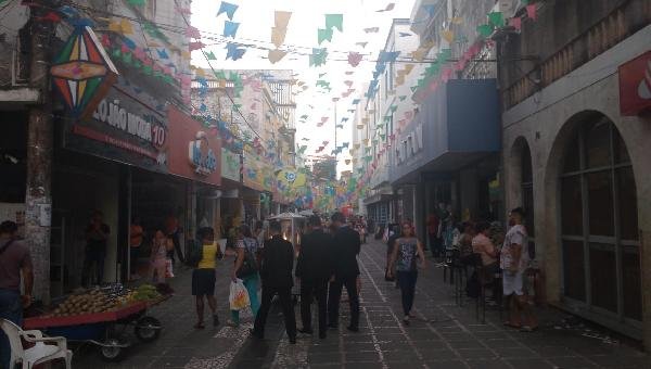
[(650, 347), (651, 3), (536, 7), (494, 36), (507, 208), (527, 209), (550, 304)]

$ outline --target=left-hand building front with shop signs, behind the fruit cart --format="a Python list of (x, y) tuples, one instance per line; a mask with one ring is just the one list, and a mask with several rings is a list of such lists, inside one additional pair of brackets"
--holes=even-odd
[[(0, 219), (17, 221), (31, 249), (35, 297), (47, 303), (95, 282), (82, 278), (86, 230), (95, 212), (111, 230), (99, 282), (142, 273), (156, 230), (175, 233), (182, 253), (200, 225), (216, 227), (220, 140), (184, 107), (187, 33), (156, 26), (189, 28), (177, 16), (189, 7), (182, 0), (3, 8), (11, 27), (2, 30), (0, 68), (0, 117), (7, 122)], [(108, 73), (99, 81), (86, 75), (98, 71), (92, 67), (69, 77), (66, 65), (88, 61)], [(132, 250), (136, 218), (146, 236)]]

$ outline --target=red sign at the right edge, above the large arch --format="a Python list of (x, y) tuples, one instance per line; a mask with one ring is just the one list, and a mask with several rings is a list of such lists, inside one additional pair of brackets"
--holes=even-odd
[(620, 111), (629, 116), (651, 111), (651, 51), (620, 66)]

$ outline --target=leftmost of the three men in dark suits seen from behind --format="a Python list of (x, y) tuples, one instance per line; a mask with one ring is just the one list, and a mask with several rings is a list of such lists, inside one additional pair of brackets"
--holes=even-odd
[(258, 339), (265, 336), (265, 323), (271, 307), (273, 295), (278, 294), (285, 321), (285, 330), (290, 343), (296, 343), (296, 318), (292, 304), (292, 267), (294, 266), (294, 247), (292, 243), (283, 240), (281, 226), (278, 221), (269, 225), (271, 239), (265, 241), (261, 255), (260, 278), (263, 280), (263, 303), (255, 317), (252, 334)]

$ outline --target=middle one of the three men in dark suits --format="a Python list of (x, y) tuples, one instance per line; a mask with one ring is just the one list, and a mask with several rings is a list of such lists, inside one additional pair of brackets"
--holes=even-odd
[(328, 281), (332, 277), (332, 238), (323, 232), (321, 218), (309, 217), (311, 232), (303, 237), (301, 254), (296, 264), (296, 277), (301, 279), (301, 333), (311, 334), (311, 302), (319, 306), (319, 338), (326, 339)]

